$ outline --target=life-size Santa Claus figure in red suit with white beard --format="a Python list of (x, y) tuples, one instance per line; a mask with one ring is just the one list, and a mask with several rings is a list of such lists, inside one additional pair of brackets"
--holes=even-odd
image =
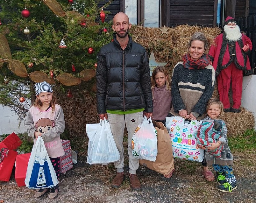
[[(215, 38), (209, 55), (218, 81), (220, 101), (224, 112), (239, 113), (242, 98), (243, 72), (253, 74), (248, 54), (252, 50), (250, 38), (240, 32), (234, 18), (228, 16), (223, 26), (224, 32)], [(228, 92), (232, 88), (233, 106), (230, 108)]]

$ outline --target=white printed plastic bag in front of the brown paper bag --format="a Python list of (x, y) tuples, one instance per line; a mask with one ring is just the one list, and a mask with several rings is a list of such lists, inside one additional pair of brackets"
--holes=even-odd
[(132, 154), (137, 159), (155, 161), (157, 155), (157, 131), (151, 117), (144, 116), (132, 136)]

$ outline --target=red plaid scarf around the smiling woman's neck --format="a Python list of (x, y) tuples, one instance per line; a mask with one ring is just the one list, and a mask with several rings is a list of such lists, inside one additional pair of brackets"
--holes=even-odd
[(203, 54), (202, 57), (196, 61), (191, 59), (189, 54), (185, 54), (182, 57), (184, 68), (187, 69), (204, 69), (210, 64), (210, 58), (208, 54)]

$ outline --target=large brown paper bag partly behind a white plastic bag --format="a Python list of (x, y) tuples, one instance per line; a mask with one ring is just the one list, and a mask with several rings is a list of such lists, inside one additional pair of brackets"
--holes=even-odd
[(164, 175), (169, 174), (174, 169), (174, 159), (172, 153), (172, 142), (170, 135), (162, 122), (153, 121), (157, 131), (157, 156), (156, 161), (140, 159), (140, 165), (146, 166)]

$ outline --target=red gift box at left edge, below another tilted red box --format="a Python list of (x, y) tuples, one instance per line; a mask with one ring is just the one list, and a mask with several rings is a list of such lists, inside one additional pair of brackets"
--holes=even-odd
[(18, 152), (9, 150), (7, 157), (0, 163), (0, 181), (9, 181)]

